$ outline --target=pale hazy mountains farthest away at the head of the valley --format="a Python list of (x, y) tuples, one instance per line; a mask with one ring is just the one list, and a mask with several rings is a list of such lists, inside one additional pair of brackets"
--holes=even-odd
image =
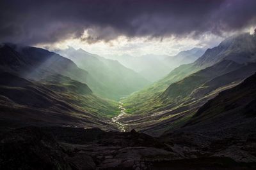
[(120, 55), (112, 58), (118, 60), (125, 67), (129, 67), (141, 74), (147, 80), (154, 82), (163, 78), (163, 76), (170, 73), (175, 67), (194, 62), (204, 51), (202, 48), (193, 48), (179, 52), (175, 56), (148, 54), (140, 57)]

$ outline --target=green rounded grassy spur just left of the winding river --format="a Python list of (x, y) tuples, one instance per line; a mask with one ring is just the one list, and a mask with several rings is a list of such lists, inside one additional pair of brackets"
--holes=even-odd
[(58, 74), (45, 78), (42, 84), (61, 95), (68, 103), (79, 106), (82, 110), (104, 117), (113, 117), (119, 113), (116, 101), (95, 96), (92, 94), (92, 90), (79, 81)]

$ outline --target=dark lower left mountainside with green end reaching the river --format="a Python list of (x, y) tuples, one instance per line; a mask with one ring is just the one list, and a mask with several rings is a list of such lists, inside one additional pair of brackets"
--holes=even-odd
[(29, 81), (1, 73), (1, 126), (70, 125), (115, 129), (110, 117), (118, 104), (92, 94), (87, 85), (68, 77), (51, 76)]

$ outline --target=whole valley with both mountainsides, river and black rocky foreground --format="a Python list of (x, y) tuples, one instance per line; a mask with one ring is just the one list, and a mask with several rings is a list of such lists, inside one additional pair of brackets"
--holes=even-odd
[[(255, 38), (227, 38), (151, 84), (119, 62), (84, 50), (68, 50), (68, 58), (77, 56), (75, 63), (42, 48), (3, 44), (0, 164), (254, 169)], [(113, 70), (118, 74), (110, 82)], [(29, 155), (8, 155), (14, 150)]]

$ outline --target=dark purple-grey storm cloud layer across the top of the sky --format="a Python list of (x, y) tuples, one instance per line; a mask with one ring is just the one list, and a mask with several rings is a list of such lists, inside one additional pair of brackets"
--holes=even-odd
[(255, 0), (1, 0), (0, 41), (51, 43), (71, 36), (194, 36), (236, 31), (256, 23)]

